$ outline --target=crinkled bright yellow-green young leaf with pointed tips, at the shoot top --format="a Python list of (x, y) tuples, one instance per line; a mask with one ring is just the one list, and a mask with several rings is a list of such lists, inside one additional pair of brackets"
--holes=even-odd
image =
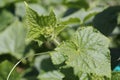
[[(28, 40), (37, 41), (42, 44), (47, 38), (54, 38), (64, 28), (57, 25), (57, 20), (53, 11), (49, 15), (39, 15), (26, 4), (26, 26), (28, 27)], [(60, 28), (62, 27), (62, 28)], [(59, 30), (59, 31), (58, 31)]]

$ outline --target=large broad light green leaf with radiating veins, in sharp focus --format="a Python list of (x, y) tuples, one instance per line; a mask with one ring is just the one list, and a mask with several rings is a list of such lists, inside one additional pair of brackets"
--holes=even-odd
[(54, 64), (65, 61), (67, 66), (73, 67), (79, 77), (81, 73), (85, 73), (111, 78), (108, 45), (109, 40), (104, 35), (92, 27), (83, 27), (50, 55)]

